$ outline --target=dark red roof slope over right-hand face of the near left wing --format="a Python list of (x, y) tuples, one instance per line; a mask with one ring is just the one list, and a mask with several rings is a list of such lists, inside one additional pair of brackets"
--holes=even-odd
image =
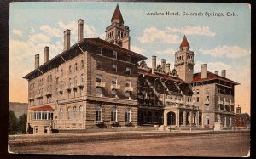
[(145, 56), (143, 56), (141, 54), (137, 54), (137, 53), (135, 53), (131, 50), (119, 47), (118, 45), (115, 45), (113, 43), (108, 43), (107, 41), (102, 40), (100, 38), (84, 38), (84, 42), (85, 43), (90, 43), (92, 45), (96, 45), (96, 46), (99, 46), (99, 47), (102, 47), (102, 48), (108, 48), (108, 49), (112, 49), (112, 50), (122, 52), (122, 53), (125, 53), (125, 54), (130, 54), (132, 56), (137, 57), (138, 60), (148, 59), (148, 58), (146, 58)]

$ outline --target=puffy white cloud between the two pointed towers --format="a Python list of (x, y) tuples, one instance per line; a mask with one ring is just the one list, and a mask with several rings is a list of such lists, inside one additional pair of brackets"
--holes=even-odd
[(138, 37), (140, 43), (179, 43), (177, 35), (172, 35), (166, 30), (149, 27), (143, 31), (143, 36)]

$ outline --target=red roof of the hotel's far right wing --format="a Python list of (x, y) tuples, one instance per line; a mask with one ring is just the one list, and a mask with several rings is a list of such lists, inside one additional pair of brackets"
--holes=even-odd
[(213, 80), (213, 79), (219, 79), (219, 80), (223, 80), (225, 82), (231, 82), (235, 85), (238, 85), (239, 83), (238, 82), (234, 82), (228, 78), (224, 78), (224, 77), (220, 77), (210, 71), (207, 71), (207, 78), (201, 78), (201, 72), (200, 73), (195, 73), (194, 74), (194, 79), (192, 82), (201, 82), (201, 81), (207, 81), (207, 80)]

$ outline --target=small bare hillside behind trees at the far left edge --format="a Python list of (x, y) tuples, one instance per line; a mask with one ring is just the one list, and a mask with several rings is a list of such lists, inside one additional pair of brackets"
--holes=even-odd
[(9, 110), (14, 111), (16, 117), (27, 114), (27, 106), (27, 103), (9, 102)]

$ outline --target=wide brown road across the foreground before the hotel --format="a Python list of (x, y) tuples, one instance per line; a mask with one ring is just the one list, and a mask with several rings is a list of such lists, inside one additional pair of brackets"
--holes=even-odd
[(14, 136), (12, 151), (33, 154), (247, 156), (250, 133), (79, 133)]

